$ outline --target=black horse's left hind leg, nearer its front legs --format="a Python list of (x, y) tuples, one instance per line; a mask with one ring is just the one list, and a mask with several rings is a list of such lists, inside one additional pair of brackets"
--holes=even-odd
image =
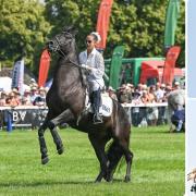
[(95, 182), (101, 182), (102, 177), (108, 175), (108, 159), (105, 152), (105, 146), (108, 139), (102, 137), (98, 138), (98, 135), (90, 134), (88, 134), (88, 137), (100, 162), (100, 173), (98, 174)]

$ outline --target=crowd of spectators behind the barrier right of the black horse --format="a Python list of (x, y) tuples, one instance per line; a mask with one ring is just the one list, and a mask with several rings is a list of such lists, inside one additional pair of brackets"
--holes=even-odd
[(168, 95), (171, 90), (180, 89), (180, 83), (175, 82), (173, 87), (166, 84), (157, 83), (156, 85), (147, 86), (138, 84), (136, 87), (132, 84), (123, 84), (114, 90), (108, 88), (110, 97), (126, 106), (132, 103), (131, 119), (134, 126), (158, 125), (167, 123), (166, 107), (137, 107), (147, 103), (167, 102)]

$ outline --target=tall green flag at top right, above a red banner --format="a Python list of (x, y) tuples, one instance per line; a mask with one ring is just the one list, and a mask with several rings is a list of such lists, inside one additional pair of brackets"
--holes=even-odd
[(164, 27), (164, 47), (169, 48), (175, 41), (175, 28), (180, 12), (180, 0), (170, 0), (167, 9)]

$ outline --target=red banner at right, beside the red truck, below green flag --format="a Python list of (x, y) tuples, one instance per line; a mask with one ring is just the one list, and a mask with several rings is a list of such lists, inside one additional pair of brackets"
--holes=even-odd
[(179, 46), (173, 46), (168, 50), (163, 68), (162, 83), (172, 85), (175, 62), (179, 58), (180, 51), (181, 47)]

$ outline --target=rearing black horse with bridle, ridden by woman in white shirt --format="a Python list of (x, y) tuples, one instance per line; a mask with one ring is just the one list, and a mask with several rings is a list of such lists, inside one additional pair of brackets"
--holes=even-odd
[[(49, 51), (58, 52), (60, 57), (54, 70), (52, 86), (47, 94), (49, 111), (38, 130), (42, 164), (49, 161), (44, 137), (45, 130), (50, 128), (58, 154), (61, 155), (63, 145), (56, 126), (68, 123), (70, 126), (88, 134), (100, 162), (100, 173), (96, 182), (100, 182), (102, 177), (111, 181), (122, 156), (125, 156), (127, 164), (125, 181), (130, 181), (133, 159), (133, 154), (128, 149), (131, 124), (123, 107), (113, 100), (111, 117), (103, 118), (101, 124), (94, 124), (93, 114), (83, 112), (87, 85), (84, 72), (78, 65), (74, 29), (71, 27), (63, 29), (61, 34), (48, 42), (47, 47)], [(106, 151), (106, 144), (110, 139), (113, 140)]]

